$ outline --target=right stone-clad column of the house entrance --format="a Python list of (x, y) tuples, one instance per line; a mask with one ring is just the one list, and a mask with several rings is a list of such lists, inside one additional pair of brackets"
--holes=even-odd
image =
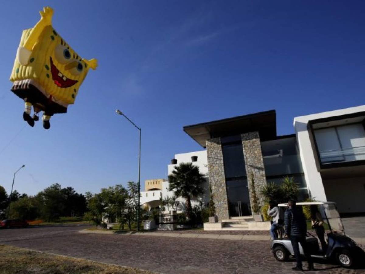
[[(258, 132), (249, 132), (241, 134), (243, 155), (245, 157), (247, 182), (249, 184), (250, 202), (251, 198), (251, 174), (255, 180), (255, 190), (260, 200), (260, 206), (263, 205), (263, 197), (260, 189), (266, 186), (266, 175), (264, 168), (264, 160), (262, 159), (260, 136)], [(251, 208), (252, 209), (252, 208)]]

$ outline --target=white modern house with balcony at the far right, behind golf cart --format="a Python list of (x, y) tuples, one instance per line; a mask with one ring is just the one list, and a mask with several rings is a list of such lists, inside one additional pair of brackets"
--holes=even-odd
[(294, 119), (308, 190), (342, 213), (365, 212), (365, 106)]

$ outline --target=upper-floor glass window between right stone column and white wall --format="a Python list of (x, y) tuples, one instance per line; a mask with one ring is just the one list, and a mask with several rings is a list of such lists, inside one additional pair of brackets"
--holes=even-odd
[(266, 176), (303, 173), (296, 138), (261, 142)]

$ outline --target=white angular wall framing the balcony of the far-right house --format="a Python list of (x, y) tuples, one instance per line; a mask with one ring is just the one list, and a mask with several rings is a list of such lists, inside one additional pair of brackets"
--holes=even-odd
[(314, 153), (310, 141), (310, 133), (307, 129), (308, 121), (319, 118), (327, 118), (349, 113), (357, 113), (365, 111), (365, 106), (350, 107), (348, 109), (327, 111), (323, 113), (311, 114), (294, 118), (294, 128), (299, 146), (300, 159), (303, 165), (304, 176), (306, 178), (308, 189), (311, 191), (312, 197), (319, 201), (327, 201), (324, 191), (322, 178), (317, 171)]

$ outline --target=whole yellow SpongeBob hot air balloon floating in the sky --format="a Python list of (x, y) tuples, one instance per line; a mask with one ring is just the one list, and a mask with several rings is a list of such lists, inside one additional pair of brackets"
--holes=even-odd
[[(41, 20), (24, 30), (10, 81), (11, 91), (24, 99), (24, 121), (34, 126), (43, 111), (43, 128), (50, 128), (55, 113), (66, 113), (89, 69), (97, 60), (81, 58), (52, 27), (53, 9), (43, 8)], [(34, 114), (31, 116), (31, 107)]]

